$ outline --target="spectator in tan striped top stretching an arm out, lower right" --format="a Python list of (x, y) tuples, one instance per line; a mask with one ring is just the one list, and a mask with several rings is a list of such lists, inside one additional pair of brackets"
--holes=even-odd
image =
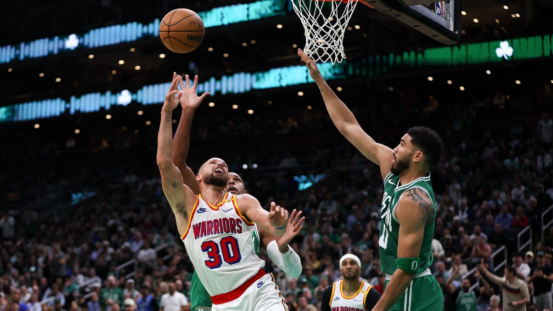
[(503, 278), (494, 276), (484, 265), (479, 265), (478, 269), (490, 281), (502, 287), (503, 310), (526, 310), (526, 304), (530, 302), (528, 286), (526, 286), (526, 282), (517, 277), (517, 269), (515, 267), (505, 268), (505, 276)]

